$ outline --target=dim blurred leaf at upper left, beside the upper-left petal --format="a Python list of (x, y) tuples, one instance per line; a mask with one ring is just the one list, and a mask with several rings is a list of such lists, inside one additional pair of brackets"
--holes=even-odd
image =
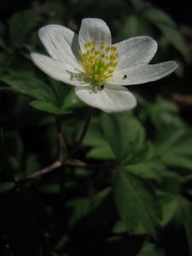
[(13, 15), (9, 20), (10, 42), (13, 47), (21, 47), (36, 26), (38, 26), (38, 15), (32, 9)]

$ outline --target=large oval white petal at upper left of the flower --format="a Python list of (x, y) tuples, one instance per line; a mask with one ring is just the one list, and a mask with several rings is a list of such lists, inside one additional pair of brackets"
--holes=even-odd
[(58, 61), (78, 65), (79, 39), (77, 34), (65, 26), (48, 25), (38, 31), (44, 47), (49, 55)]

